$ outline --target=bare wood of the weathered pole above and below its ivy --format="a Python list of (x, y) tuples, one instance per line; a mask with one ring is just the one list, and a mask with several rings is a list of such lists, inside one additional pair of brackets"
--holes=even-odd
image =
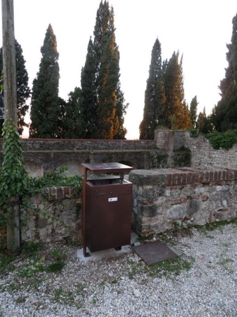
[[(11, 119), (17, 127), (16, 53), (13, 0), (1, 0), (1, 14), (4, 119), (6, 125)], [(11, 206), (11, 211), (8, 214), (7, 250), (9, 253), (17, 253), (17, 250), (20, 248), (19, 197), (12, 197), (8, 202), (8, 205)]]

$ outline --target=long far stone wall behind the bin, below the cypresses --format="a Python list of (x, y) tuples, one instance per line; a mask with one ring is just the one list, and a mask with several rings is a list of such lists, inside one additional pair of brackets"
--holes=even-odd
[[(167, 154), (154, 140), (22, 139), (24, 165), (32, 176), (67, 166), (80, 175), (81, 163), (120, 162), (138, 169), (167, 167)], [(0, 163), (2, 161), (0, 140)]]

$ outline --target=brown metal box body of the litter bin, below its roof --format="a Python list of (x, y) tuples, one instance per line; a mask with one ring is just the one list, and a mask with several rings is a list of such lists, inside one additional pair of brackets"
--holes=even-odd
[(85, 243), (90, 252), (131, 241), (132, 183), (117, 177), (100, 180), (88, 178), (85, 184)]

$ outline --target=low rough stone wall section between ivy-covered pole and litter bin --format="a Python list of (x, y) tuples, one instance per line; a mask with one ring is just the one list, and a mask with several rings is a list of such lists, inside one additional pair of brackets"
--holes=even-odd
[(30, 199), (32, 208), (23, 211), (26, 219), (22, 240), (59, 241), (65, 237), (81, 238), (81, 193), (69, 187), (52, 187), (45, 195)]

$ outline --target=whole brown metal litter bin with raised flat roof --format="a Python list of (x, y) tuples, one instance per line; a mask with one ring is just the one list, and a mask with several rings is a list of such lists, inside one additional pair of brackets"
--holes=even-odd
[[(133, 168), (121, 163), (88, 163), (83, 166), (83, 255), (115, 248), (131, 241), (132, 183), (124, 180)], [(114, 176), (88, 177), (87, 171)]]

